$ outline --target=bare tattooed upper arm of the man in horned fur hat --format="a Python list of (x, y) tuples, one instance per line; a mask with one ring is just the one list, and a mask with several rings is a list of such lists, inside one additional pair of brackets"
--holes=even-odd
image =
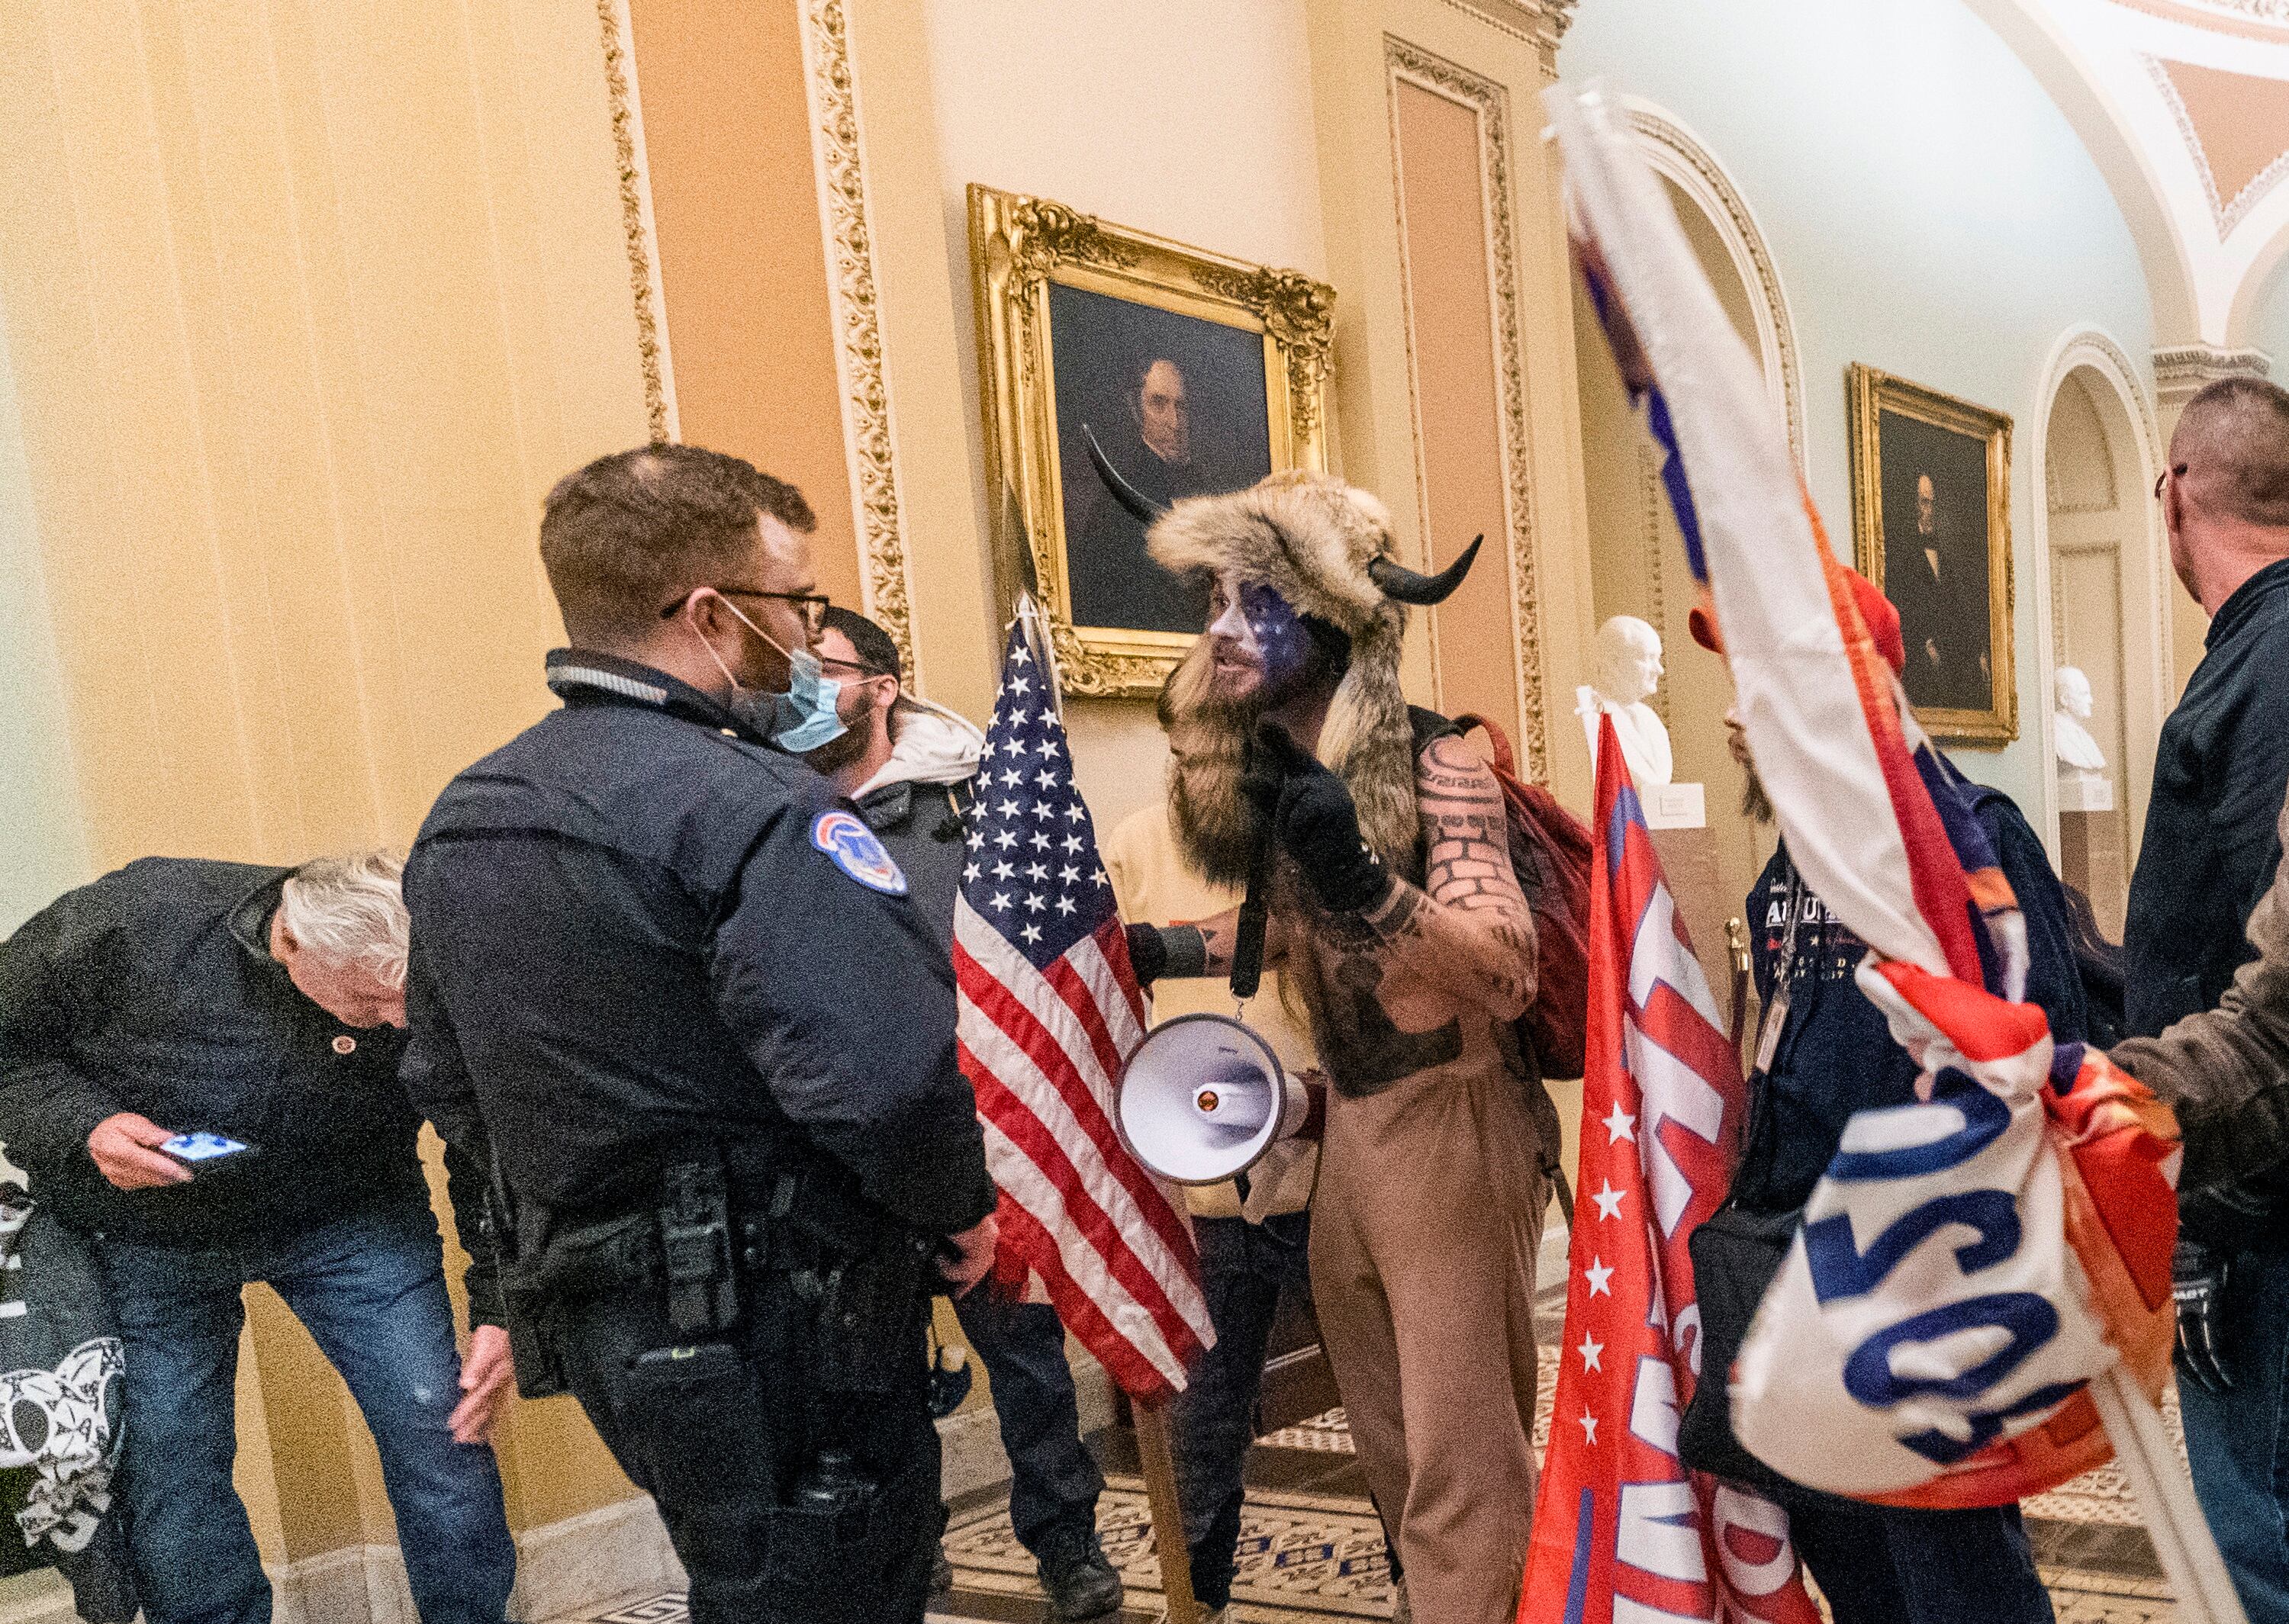
[(1424, 885), (1351, 915), (1389, 970), (1515, 1020), (1534, 1002), (1534, 913), (1511, 871), (1511, 828), (1492, 771), (1460, 739), (1433, 739), (1415, 764), (1431, 842)]

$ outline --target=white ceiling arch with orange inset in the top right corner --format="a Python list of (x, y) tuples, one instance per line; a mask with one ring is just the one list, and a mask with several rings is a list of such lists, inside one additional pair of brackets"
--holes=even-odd
[(2154, 341), (2220, 350), (2289, 252), (2289, 0), (1969, 0), (2106, 174)]

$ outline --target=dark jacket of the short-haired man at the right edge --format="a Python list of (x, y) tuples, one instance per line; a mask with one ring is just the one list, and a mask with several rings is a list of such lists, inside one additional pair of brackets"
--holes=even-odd
[(2122, 933), (2131, 1036), (2213, 1009), (2257, 956), (2243, 929), (2273, 883), (2289, 791), (2289, 560), (2241, 583), (2163, 723)]

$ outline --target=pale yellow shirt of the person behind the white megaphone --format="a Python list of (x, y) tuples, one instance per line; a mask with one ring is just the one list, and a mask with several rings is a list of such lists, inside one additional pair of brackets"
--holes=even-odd
[[(1122, 920), (1131, 924), (1183, 924), (1206, 920), (1238, 906), (1238, 892), (1209, 885), (1183, 865), (1167, 803), (1131, 812), (1099, 844), (1112, 897)], [(1161, 981), (1151, 988), (1154, 1020), (1172, 1016), (1229, 1016), (1231, 988), (1222, 979)], [(1248, 1025), (1264, 1034), (1289, 1075), (1318, 1066), (1312, 1038), (1298, 1032), (1280, 1004), (1280, 977), (1266, 972), (1264, 986), (1248, 1000)], [(1302, 1212), (1312, 1203), (1312, 1180), (1318, 1173), (1318, 1146), (1302, 1139), (1275, 1144), (1248, 1173), (1245, 1217), (1264, 1221), (1275, 1212)], [(1186, 1205), (1195, 1217), (1243, 1217), (1234, 1183), (1188, 1185)]]

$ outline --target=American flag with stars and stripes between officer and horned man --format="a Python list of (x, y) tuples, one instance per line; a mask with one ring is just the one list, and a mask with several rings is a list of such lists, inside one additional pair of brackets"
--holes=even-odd
[(961, 1070), (1000, 1185), (1003, 1281), (1039, 1276), (1131, 1398), (1183, 1388), (1215, 1340), (1193, 1226), (1112, 1128), (1144, 997), (1074, 787), (1055, 679), (1009, 631), (955, 901)]

